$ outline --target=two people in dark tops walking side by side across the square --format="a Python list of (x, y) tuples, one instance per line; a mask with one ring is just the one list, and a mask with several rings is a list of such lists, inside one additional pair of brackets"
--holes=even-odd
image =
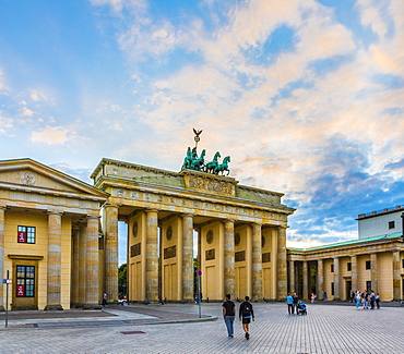
[[(240, 305), (239, 312), (238, 312), (238, 318), (239, 320), (242, 320), (242, 329), (246, 333), (246, 339), (250, 339), (250, 333), (249, 333), (249, 327), (252, 320), (256, 320), (254, 318), (254, 312), (252, 309), (252, 305), (249, 303), (250, 297), (246, 296), (245, 302)], [(235, 303), (230, 300), (230, 295), (226, 295), (226, 301), (223, 303), (223, 318), (226, 324), (227, 328), (227, 333), (228, 337), (233, 338), (234, 337), (234, 321), (236, 317), (236, 305)]]

